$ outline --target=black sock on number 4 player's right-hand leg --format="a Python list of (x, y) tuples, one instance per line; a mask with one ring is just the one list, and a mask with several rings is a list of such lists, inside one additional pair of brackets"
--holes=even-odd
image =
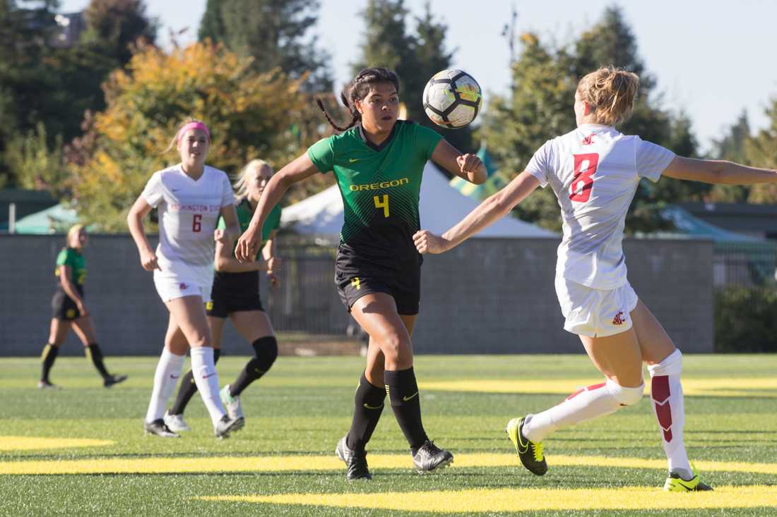
[(412, 367), (407, 370), (385, 370), (383, 379), (396, 422), (405, 433), (410, 450), (415, 453), (416, 449), (428, 439), (421, 423), (421, 404), (416, 374)]

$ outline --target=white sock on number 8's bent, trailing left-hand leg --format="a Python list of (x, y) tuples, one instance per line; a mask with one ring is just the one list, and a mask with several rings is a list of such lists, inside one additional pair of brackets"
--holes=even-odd
[(556, 429), (579, 424), (591, 418), (615, 413), (622, 406), (636, 404), (644, 385), (640, 387), (622, 387), (612, 380), (592, 384), (576, 391), (561, 404), (542, 411), (537, 415), (528, 415), (524, 421), (524, 436), (531, 442), (542, 439)]

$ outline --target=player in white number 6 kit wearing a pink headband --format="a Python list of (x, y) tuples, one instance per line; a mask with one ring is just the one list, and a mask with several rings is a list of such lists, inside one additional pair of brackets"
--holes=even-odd
[[(141, 265), (154, 272), (154, 285), (170, 313), (143, 428), (164, 438), (178, 437), (165, 425), (162, 415), (181, 376), (186, 350), (191, 348), (197, 390), (216, 436), (227, 438), (238, 421), (228, 417), (218, 397), (218, 374), (204, 304), (211, 300), (214, 242), (228, 245), (240, 232), (235, 199), (225, 172), (205, 165), (211, 134), (204, 123), (183, 123), (168, 151), (173, 145), (181, 162), (155, 172), (127, 216)], [(143, 218), (152, 208), (159, 210), (156, 252), (143, 231)], [(224, 217), (226, 230), (216, 229), (219, 215)]]

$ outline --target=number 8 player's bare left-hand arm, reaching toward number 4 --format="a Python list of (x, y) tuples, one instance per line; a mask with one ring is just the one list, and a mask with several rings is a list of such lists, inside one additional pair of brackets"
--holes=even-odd
[(528, 172), (521, 172), (506, 187), (480, 203), (475, 210), (441, 236), (428, 230), (417, 231), (413, 241), (420, 253), (442, 253), (458, 246), (472, 235), (506, 216), (534, 189), (539, 182)]

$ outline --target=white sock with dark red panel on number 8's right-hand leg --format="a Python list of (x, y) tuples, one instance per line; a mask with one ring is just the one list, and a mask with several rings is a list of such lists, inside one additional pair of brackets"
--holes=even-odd
[[(688, 479), (692, 476), (691, 463), (685, 452), (683, 428), (685, 404), (680, 383), (682, 354), (675, 349), (666, 359), (647, 367), (650, 372), (650, 405), (660, 427), (661, 442), (669, 461), (669, 471)], [(685, 472), (683, 472), (685, 470)]]

